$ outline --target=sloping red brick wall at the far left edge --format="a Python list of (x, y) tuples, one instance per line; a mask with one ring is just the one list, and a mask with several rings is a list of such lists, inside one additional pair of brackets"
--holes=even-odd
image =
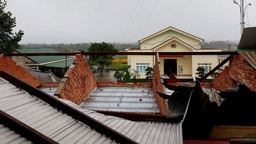
[(25, 69), (16, 65), (10, 57), (4, 57), (4, 55), (0, 55), (0, 71), (7, 71), (10, 74), (13, 74), (19, 79), (22, 79), (24, 82), (31, 84), (34, 87), (40, 87), (41, 83), (39, 79), (33, 77), (29, 72), (25, 71)]

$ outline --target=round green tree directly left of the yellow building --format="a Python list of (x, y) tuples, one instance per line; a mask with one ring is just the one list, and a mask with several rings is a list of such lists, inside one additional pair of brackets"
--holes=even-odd
[[(102, 43), (93, 43), (89, 48), (88, 52), (118, 52), (116, 48), (112, 44), (107, 44), (105, 42)], [(113, 61), (113, 56), (107, 55), (107, 56), (90, 56), (88, 63), (93, 68), (100, 68), (100, 70), (103, 70), (104, 65), (111, 65), (111, 61)]]

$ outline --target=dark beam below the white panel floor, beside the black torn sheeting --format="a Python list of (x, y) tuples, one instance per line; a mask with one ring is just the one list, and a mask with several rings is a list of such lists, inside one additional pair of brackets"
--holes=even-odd
[(151, 113), (131, 113), (131, 112), (114, 112), (94, 110), (98, 113), (110, 115), (114, 117), (124, 118), (132, 121), (147, 121), (147, 122), (181, 122), (183, 115), (161, 115)]

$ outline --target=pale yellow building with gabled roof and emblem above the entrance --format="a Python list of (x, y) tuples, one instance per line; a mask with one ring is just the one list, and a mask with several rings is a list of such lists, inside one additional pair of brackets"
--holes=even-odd
[[(144, 39), (138, 40), (140, 49), (128, 49), (128, 52), (221, 52), (220, 49), (203, 49), (201, 42), (203, 39), (168, 27), (156, 32)], [(174, 75), (177, 79), (192, 79), (198, 67), (204, 67), (206, 73), (217, 65), (217, 55), (194, 55), (194, 56), (159, 56), (161, 71), (165, 75)], [(135, 69), (141, 74), (141, 78), (146, 78), (146, 68), (153, 67), (153, 56), (128, 56), (129, 71)], [(208, 77), (211, 79), (211, 77)]]

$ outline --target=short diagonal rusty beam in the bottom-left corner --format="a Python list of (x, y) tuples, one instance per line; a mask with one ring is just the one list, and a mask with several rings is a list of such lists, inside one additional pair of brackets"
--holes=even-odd
[(13, 118), (9, 114), (4, 113), (2, 110), (0, 110), (0, 123), (35, 144), (58, 144), (56, 141), (36, 131), (32, 127), (29, 127), (18, 119)]

